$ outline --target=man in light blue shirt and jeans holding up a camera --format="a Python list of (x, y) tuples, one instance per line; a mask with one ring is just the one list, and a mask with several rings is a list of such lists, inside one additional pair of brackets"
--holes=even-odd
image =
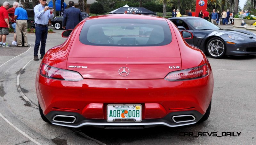
[(53, 9), (49, 10), (49, 7), (46, 7), (46, 0), (39, 0), (39, 4), (37, 4), (34, 8), (35, 12), (35, 25), (36, 25), (36, 43), (34, 47), (34, 60), (38, 59), (38, 49), (41, 41), (40, 48), (40, 59), (43, 59), (45, 54), (45, 43), (48, 34), (48, 21), (53, 18)]

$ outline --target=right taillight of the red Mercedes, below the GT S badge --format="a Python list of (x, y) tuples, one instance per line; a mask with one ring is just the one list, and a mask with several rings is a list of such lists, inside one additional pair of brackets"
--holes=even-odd
[(168, 81), (182, 81), (190, 79), (199, 79), (208, 75), (208, 66), (204, 64), (202, 66), (189, 68), (185, 70), (170, 72), (164, 79)]

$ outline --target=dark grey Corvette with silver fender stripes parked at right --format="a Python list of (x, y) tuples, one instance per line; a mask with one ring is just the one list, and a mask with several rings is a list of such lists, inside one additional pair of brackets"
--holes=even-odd
[(212, 58), (225, 55), (256, 55), (256, 34), (246, 30), (220, 29), (199, 17), (169, 18), (179, 30), (193, 33), (193, 39), (185, 39)]

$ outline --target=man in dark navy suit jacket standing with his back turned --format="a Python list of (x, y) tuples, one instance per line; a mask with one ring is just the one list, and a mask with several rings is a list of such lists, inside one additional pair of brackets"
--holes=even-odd
[(83, 20), (81, 11), (74, 6), (73, 1), (68, 2), (69, 9), (64, 10), (62, 25), (63, 28), (74, 29)]

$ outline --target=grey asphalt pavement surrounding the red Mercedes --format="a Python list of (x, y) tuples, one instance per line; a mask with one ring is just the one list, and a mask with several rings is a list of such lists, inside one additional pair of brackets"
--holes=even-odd
[[(220, 27), (232, 29), (231, 26)], [(65, 41), (61, 38), (63, 30), (54, 31), (56, 33), (48, 34), (47, 50)], [(12, 38), (10, 33), (7, 42), (10, 43)], [(256, 56), (208, 57), (214, 75), (214, 92), (210, 117), (201, 124), (178, 128), (74, 129), (42, 121), (35, 91), (35, 76), (41, 59), (32, 60), (34, 34), (29, 34), (28, 43), (26, 48), (0, 47), (1, 145), (256, 144)], [(199, 137), (180, 136), (186, 132), (193, 132), (194, 136), (205, 133)], [(217, 132), (218, 136), (225, 135), (225, 132), (241, 134), (239, 137), (216, 137), (207, 132)]]

